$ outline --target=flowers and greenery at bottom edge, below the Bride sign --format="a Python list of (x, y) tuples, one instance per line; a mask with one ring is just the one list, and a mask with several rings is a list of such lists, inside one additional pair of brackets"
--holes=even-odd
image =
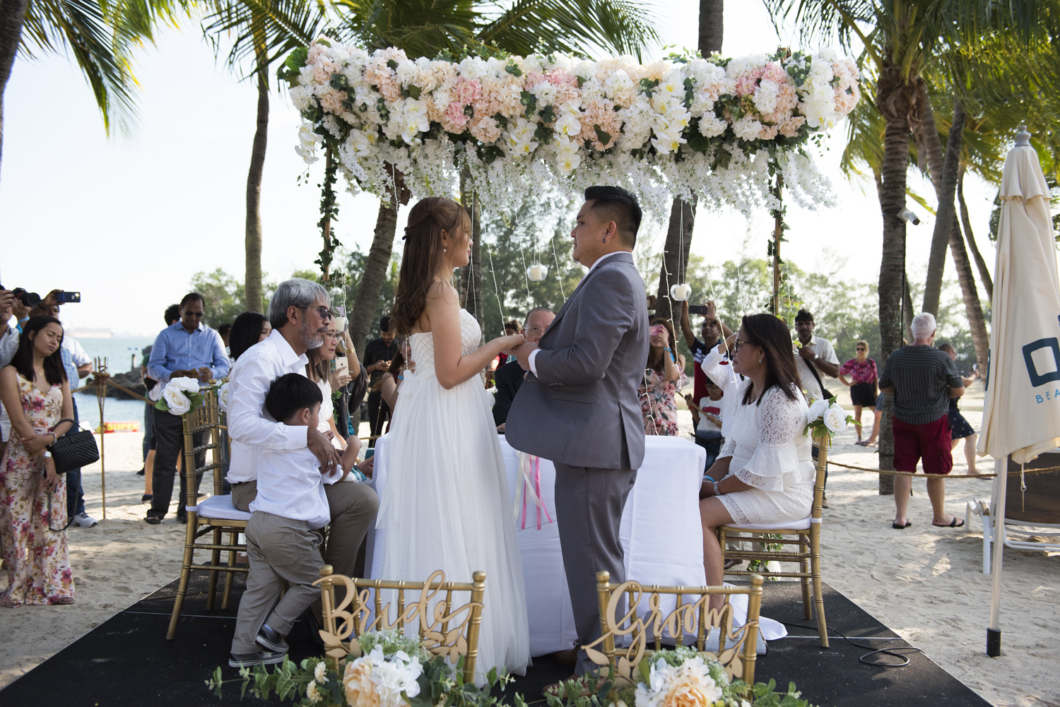
[[(272, 672), (265, 666), (243, 668), (240, 696), (251, 694), (267, 699), (299, 700), (302, 707), (499, 707), (502, 702), (490, 695), (494, 686), (501, 689), (512, 681), (502, 671), (491, 669), (485, 687), (465, 685), (463, 657), (455, 667), (444, 656), (431, 655), (418, 637), (398, 630), (366, 632), (351, 639), (350, 653), (341, 659), (305, 658), (296, 665), (284, 658)], [(217, 668), (207, 687), (222, 696), (226, 682)], [(525, 707), (515, 695), (516, 707)]]

